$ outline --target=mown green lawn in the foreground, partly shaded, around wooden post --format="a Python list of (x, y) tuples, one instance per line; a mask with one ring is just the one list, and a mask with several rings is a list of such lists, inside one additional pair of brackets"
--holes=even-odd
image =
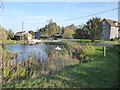
[(65, 67), (49, 77), (16, 81), (4, 84), (4, 88), (118, 88), (118, 52), (107, 47), (106, 57), (102, 47), (94, 46), (92, 62)]

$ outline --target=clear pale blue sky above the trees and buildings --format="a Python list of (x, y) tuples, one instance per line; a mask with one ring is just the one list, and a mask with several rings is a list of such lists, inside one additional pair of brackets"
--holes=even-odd
[(22, 22), (24, 31), (36, 31), (47, 25), (50, 19), (64, 27), (85, 24), (92, 17), (118, 20), (118, 10), (113, 10), (63, 21), (117, 8), (117, 2), (4, 2), (3, 5), (2, 26), (7, 30), (12, 29), (15, 33), (22, 31)]

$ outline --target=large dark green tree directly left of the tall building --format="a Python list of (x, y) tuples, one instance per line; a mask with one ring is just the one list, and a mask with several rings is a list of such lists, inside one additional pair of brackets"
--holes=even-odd
[(102, 22), (100, 18), (92, 18), (83, 27), (85, 34), (89, 36), (91, 42), (95, 42), (102, 35)]

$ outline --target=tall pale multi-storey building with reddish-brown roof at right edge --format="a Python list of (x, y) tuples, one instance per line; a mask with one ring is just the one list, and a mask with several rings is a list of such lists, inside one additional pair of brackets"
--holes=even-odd
[(102, 40), (110, 40), (112, 38), (119, 38), (120, 34), (120, 24), (118, 21), (110, 20), (110, 19), (103, 19), (103, 32), (102, 32)]

